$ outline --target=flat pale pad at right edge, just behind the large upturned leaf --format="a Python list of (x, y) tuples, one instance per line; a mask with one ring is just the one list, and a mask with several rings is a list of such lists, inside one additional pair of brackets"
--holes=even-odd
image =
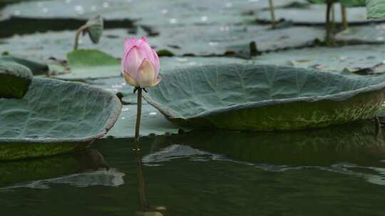
[[(304, 48), (283, 50), (255, 57), (261, 64), (291, 65), (301, 68), (317, 68), (325, 71), (354, 72), (362, 68), (372, 68), (385, 59), (384, 45), (351, 45), (338, 48)], [(375, 72), (384, 72), (379, 70)]]

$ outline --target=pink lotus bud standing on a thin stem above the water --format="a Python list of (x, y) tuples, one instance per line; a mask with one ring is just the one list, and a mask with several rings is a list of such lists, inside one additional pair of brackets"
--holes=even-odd
[(125, 82), (130, 85), (145, 88), (160, 82), (159, 57), (145, 37), (125, 39), (121, 64)]

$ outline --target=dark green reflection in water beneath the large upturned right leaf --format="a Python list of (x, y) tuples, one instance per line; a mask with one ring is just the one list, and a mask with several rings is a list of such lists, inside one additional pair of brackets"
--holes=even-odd
[[(374, 121), (325, 129), (289, 132), (229, 132), (198, 130), (159, 137), (152, 153), (173, 144), (225, 156), (229, 160), (276, 166), (332, 166), (349, 161), (359, 166), (384, 167), (384, 131)], [(177, 155), (173, 155), (177, 156)]]

